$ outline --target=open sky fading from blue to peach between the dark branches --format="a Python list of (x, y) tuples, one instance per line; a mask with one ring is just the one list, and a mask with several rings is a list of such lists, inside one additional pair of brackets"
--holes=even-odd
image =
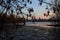
[[(45, 2), (51, 3), (51, 0), (46, 0)], [(44, 13), (46, 13), (47, 4), (43, 3), (42, 6), (38, 5), (38, 0), (32, 0), (32, 4), (27, 4), (27, 7), (33, 7), (34, 12), (32, 13), (37, 19), (40, 17), (41, 19), (49, 19), (51, 16), (45, 17)], [(28, 13), (26, 9), (23, 9), (24, 13)], [(53, 12), (50, 13), (52, 15)], [(53, 14), (54, 15), (54, 14)]]

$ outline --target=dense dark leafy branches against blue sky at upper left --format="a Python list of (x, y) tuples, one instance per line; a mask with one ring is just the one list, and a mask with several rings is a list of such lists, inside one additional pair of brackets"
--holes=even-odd
[[(25, 3), (23, 3), (23, 2), (25, 2)], [(4, 7), (7, 12), (8, 12), (8, 10), (11, 10), (11, 8), (12, 9), (16, 8), (21, 11), (21, 9), (23, 9), (27, 6), (27, 3), (32, 4), (32, 1), (31, 0), (27, 0), (27, 1), (26, 0), (1, 0), (0, 6)], [(16, 6), (14, 6), (14, 5), (16, 5)], [(23, 5), (23, 6), (20, 6), (20, 5)], [(26, 8), (28, 8), (28, 7), (26, 7)], [(30, 9), (30, 8), (28, 8), (28, 9)], [(30, 12), (31, 12), (31, 10), (30, 10)]]

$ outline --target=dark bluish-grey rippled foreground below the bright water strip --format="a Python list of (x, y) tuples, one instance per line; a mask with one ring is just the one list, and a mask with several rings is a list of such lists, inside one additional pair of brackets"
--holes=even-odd
[(5, 24), (0, 30), (0, 40), (60, 40), (60, 29)]

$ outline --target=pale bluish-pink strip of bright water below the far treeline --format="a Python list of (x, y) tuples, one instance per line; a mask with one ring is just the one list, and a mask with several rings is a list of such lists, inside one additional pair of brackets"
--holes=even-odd
[(52, 28), (52, 26), (47, 26), (47, 25), (52, 25), (53, 23), (54, 22), (27, 22), (26, 25)]

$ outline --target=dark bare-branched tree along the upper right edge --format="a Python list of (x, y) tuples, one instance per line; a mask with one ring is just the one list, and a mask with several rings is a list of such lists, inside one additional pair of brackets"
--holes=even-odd
[[(51, 3), (45, 2), (44, 0), (39, 0), (39, 2), (41, 3), (41, 6), (43, 3), (50, 5), (53, 12), (56, 14), (56, 18), (58, 18), (60, 16), (60, 0), (54, 0), (54, 1), (51, 0)], [(46, 9), (48, 9), (48, 8), (46, 8)]]

